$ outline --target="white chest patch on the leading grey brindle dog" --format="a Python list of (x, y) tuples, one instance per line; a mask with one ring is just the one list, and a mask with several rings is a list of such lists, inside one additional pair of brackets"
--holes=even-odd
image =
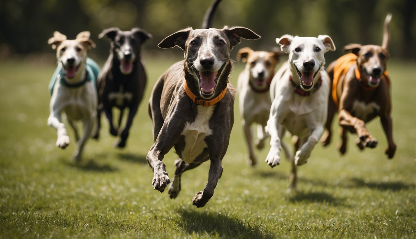
[(209, 120), (214, 112), (214, 107), (198, 105), (198, 114), (194, 122), (186, 122), (182, 131), (185, 136), (185, 149), (182, 151), (183, 161), (192, 163), (195, 158), (207, 147), (205, 137), (212, 134), (209, 128)]

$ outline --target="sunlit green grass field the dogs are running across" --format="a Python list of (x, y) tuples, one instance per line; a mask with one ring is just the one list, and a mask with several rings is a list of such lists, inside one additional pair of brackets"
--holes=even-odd
[[(146, 59), (148, 86), (126, 149), (112, 147), (115, 138), (104, 124), (101, 139), (88, 142), (79, 164), (71, 160), (74, 141), (58, 149), (56, 132), (47, 126), (54, 65), (0, 63), (0, 238), (416, 237), (414, 62), (389, 61), (394, 159), (384, 155), (386, 139), (376, 119), (368, 125), (379, 140), (376, 149), (359, 151), (354, 137), (342, 157), (337, 137), (328, 148), (317, 145), (299, 167), (297, 193), (287, 193), (288, 161), (275, 168), (262, 160), (256, 168), (246, 165), (236, 104), (223, 176), (208, 204), (196, 208), (191, 200), (206, 185), (209, 162), (183, 175), (175, 200), (152, 188), (147, 101), (174, 60)], [(242, 68), (235, 63), (234, 85)], [(267, 152), (258, 151), (258, 158)], [(174, 159), (173, 151), (164, 159), (171, 178)]]

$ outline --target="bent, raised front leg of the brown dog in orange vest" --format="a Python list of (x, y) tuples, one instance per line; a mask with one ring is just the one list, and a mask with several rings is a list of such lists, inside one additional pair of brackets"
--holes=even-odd
[(365, 122), (357, 117), (352, 116), (347, 110), (343, 109), (338, 115), (339, 125), (352, 126), (358, 134), (359, 139), (366, 147), (374, 148), (377, 146), (377, 139), (371, 136), (365, 127)]

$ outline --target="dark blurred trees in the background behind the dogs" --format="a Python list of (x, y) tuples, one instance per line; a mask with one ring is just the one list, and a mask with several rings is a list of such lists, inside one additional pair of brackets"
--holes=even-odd
[[(97, 44), (93, 54), (104, 59), (109, 44), (97, 36), (108, 27), (146, 29), (153, 38), (144, 48), (156, 54), (157, 44), (169, 34), (188, 26), (200, 28), (210, 4), (211, 0), (0, 0), (0, 59), (53, 53), (47, 39), (55, 30), (69, 39), (89, 30)], [(337, 54), (328, 54), (332, 60), (348, 43), (381, 44), (388, 12), (393, 14), (391, 55), (415, 58), (416, 0), (223, 0), (213, 27), (248, 27), (262, 38), (243, 41), (241, 47), (259, 50), (276, 47), (275, 38), (283, 34), (328, 34), (337, 46)], [(160, 51), (165, 53), (171, 54)]]

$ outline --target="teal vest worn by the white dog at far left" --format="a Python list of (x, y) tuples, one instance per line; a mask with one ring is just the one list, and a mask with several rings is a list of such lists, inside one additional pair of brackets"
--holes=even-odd
[(65, 85), (67, 87), (70, 88), (76, 88), (79, 87), (81, 85), (84, 85), (87, 81), (92, 81), (94, 83), (94, 85), (97, 85), (97, 77), (98, 77), (98, 73), (100, 71), (100, 67), (98, 66), (98, 64), (93, 61), (91, 58), (87, 58), (86, 61), (86, 70), (87, 70), (87, 75), (85, 77), (84, 80), (82, 80), (79, 83), (69, 83), (65, 80), (65, 72), (62, 69), (62, 65), (59, 65), (55, 72), (52, 75), (51, 81), (49, 83), (49, 93), (52, 95), (53, 93), (53, 88), (55, 86), (55, 83), (57, 82), (57, 80), (59, 80), (59, 84), (61, 85)]

